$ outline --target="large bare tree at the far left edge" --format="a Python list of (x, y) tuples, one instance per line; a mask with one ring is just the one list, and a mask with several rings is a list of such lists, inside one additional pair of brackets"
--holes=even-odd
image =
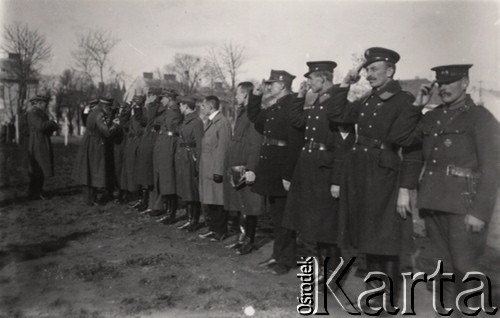
[(36, 81), (43, 63), (52, 57), (52, 47), (38, 30), (31, 30), (28, 25), (13, 24), (4, 26), (2, 50), (15, 54), (9, 59), (7, 72), (19, 85), (17, 111), (21, 114), (27, 97), (30, 82)]

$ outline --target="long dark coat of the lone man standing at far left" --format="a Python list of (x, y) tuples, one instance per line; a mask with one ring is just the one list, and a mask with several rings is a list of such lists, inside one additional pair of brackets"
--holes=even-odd
[(27, 113), (27, 121), (30, 133), (28, 172), (51, 177), (54, 175), (54, 154), (50, 136), (59, 126), (38, 107), (33, 107)]

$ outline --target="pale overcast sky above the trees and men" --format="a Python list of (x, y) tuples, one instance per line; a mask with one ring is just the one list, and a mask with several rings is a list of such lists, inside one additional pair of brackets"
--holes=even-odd
[[(397, 76), (431, 78), (430, 68), (472, 63), (471, 79), (500, 88), (499, 2), (483, 1), (151, 1), (0, 0), (2, 21), (38, 29), (53, 45), (46, 73), (71, 67), (75, 34), (113, 31), (112, 63), (131, 77), (170, 62), (176, 52), (204, 55), (225, 40), (246, 47), (240, 80), (285, 69), (302, 80), (309, 60), (334, 60), (384, 46), (401, 54)], [(296, 81), (298, 85), (299, 81)]]

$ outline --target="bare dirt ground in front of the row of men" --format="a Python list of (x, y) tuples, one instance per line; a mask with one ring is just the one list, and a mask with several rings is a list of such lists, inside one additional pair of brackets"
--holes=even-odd
[[(63, 159), (56, 163), (71, 162)], [(224, 248), (234, 237), (208, 242), (123, 205), (87, 207), (77, 188), (60, 186), (49, 201), (11, 193), (16, 199), (1, 204), (0, 317), (245, 317), (249, 306), (255, 317), (298, 316), (297, 271), (276, 277), (257, 266), (271, 253), (268, 218), (260, 222), (259, 249), (238, 256)], [(19, 187), (0, 192), (7, 197)], [(494, 282), (496, 306), (499, 210), (497, 204), (489, 246), (478, 260)], [(432, 250), (416, 225), (414, 265), (429, 270)], [(363, 283), (353, 271), (345, 286), (359, 294)], [(417, 317), (433, 316), (431, 301), (425, 286), (417, 288)], [(331, 296), (328, 308), (335, 317), (349, 317)]]

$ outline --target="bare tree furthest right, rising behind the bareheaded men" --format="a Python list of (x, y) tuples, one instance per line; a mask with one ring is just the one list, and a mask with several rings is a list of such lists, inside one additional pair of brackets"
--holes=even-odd
[(246, 60), (244, 53), (245, 47), (232, 41), (208, 52), (209, 71), (216, 80), (226, 85), (231, 93), (236, 89), (240, 67)]

